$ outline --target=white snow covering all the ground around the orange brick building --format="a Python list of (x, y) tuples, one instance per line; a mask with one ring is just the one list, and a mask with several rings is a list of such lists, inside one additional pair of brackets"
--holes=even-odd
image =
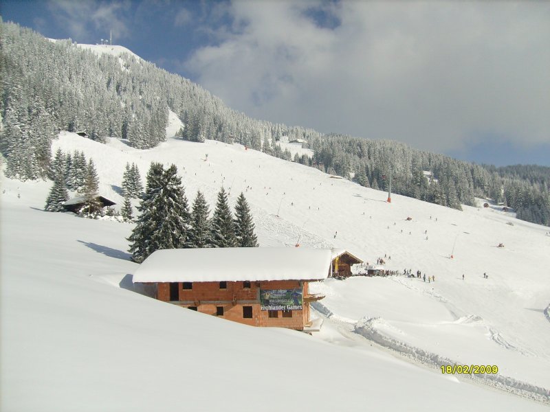
[[(483, 207), (388, 204), (384, 192), (236, 144), (169, 138), (135, 150), (61, 133), (57, 148), (94, 159), (100, 192), (118, 205), (126, 161), (143, 178), (151, 161), (175, 163), (190, 203), (199, 188), (210, 209), (222, 184), (232, 205), (245, 192), (261, 247), (388, 255), (386, 268), (435, 282), (327, 279), (311, 284), (326, 295), (321, 332), (250, 328), (126, 290), (133, 225), (42, 211), (51, 182), (2, 174), (1, 411), (547, 410), (547, 227)], [(441, 361), (499, 373), (441, 374)]]

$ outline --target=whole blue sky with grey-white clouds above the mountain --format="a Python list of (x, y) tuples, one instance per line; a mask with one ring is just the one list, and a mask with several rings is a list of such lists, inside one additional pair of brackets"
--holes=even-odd
[(128, 47), (259, 119), (550, 165), (550, 2), (11, 1), (4, 21)]

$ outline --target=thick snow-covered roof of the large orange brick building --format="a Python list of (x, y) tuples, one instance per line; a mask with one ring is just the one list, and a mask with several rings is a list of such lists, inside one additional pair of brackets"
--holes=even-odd
[(230, 247), (163, 249), (137, 268), (133, 282), (236, 282), (326, 279), (329, 249)]

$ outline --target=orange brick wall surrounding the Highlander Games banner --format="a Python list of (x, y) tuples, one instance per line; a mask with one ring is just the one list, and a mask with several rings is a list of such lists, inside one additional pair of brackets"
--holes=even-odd
[[(308, 284), (305, 280), (159, 282), (155, 284), (155, 297), (245, 325), (308, 330), (312, 325), (309, 303), (320, 299), (309, 295)], [(302, 309), (262, 310), (260, 290), (282, 289), (302, 290)]]

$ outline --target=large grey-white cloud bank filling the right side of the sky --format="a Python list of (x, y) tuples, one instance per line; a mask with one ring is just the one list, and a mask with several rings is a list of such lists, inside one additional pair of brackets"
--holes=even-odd
[[(309, 8), (339, 21), (326, 28)], [(320, 131), (461, 148), (547, 142), (549, 3), (235, 2), (187, 67), (229, 106)]]

